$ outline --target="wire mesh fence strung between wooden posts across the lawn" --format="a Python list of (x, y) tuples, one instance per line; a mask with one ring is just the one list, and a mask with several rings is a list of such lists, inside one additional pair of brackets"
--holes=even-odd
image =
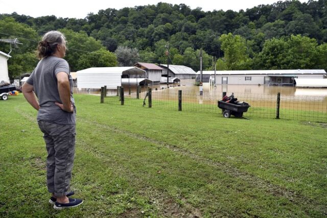
[[(141, 93), (129, 93), (129, 90), (123, 91), (123, 104), (126, 106), (148, 107), (150, 105), (161, 110), (179, 110), (178, 88), (151, 90), (151, 92)], [(233, 95), (239, 101), (245, 101), (251, 105), (243, 117), (276, 118), (277, 95), (253, 93), (233, 93)], [(218, 100), (221, 100), (222, 96), (222, 92), (208, 92), (200, 96), (198, 92), (182, 90), (181, 111), (221, 115), (222, 109), (218, 107)], [(103, 103), (122, 104), (121, 99), (121, 91), (110, 90), (106, 92), (106, 97), (103, 96)], [(278, 108), (280, 119), (327, 122), (327, 96), (281, 95)]]

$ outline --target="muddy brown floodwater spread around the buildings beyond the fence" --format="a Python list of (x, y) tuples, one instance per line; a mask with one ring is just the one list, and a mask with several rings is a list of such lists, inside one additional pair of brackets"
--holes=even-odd
[[(222, 93), (234, 93), (240, 101), (247, 101), (251, 106), (275, 107), (277, 93), (281, 93), (282, 108), (299, 108), (306, 111), (327, 112), (327, 89), (296, 88), (293, 86), (268, 86), (268, 85), (228, 85), (218, 84), (216, 87), (203, 83), (203, 96), (199, 95), (199, 86), (195, 86), (194, 79), (181, 80), (179, 84), (158, 84), (141, 88), (140, 98), (144, 98), (148, 88), (152, 89), (152, 99), (176, 100), (178, 91), (182, 91), (182, 101), (199, 104), (217, 104), (222, 98)], [(129, 95), (129, 89), (131, 95)], [(124, 95), (136, 97), (136, 86), (124, 86)], [(79, 94), (100, 95), (97, 89), (74, 89)], [(116, 96), (117, 90), (108, 90), (107, 96)]]

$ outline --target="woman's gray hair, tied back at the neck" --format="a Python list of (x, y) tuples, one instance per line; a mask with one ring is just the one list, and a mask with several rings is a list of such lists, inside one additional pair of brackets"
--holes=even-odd
[(57, 51), (57, 45), (63, 43), (65, 36), (59, 31), (49, 31), (42, 37), (37, 46), (37, 57), (42, 59), (49, 57)]

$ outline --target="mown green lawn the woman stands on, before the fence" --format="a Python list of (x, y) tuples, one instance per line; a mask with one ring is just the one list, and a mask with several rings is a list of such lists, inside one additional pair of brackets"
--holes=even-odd
[(0, 101), (0, 217), (324, 217), (326, 125), (223, 118), (76, 95), (71, 188), (48, 203), (46, 151), (22, 95)]

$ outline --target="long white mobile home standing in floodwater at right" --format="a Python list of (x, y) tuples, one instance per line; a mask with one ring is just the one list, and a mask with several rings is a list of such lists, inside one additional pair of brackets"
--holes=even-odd
[[(215, 71), (202, 71), (202, 81), (215, 80)], [(216, 84), (267, 84), (294, 85), (295, 78), (324, 78), (324, 70), (255, 70), (255, 71), (216, 71)], [(200, 71), (197, 72), (200, 81)]]

